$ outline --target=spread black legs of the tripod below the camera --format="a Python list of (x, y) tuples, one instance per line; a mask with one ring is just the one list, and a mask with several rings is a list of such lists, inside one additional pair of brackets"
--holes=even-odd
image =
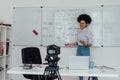
[(44, 78), (45, 80), (54, 80), (58, 78), (58, 80), (62, 80), (60, 73), (59, 73), (59, 67), (50, 67), (47, 66), (44, 71)]

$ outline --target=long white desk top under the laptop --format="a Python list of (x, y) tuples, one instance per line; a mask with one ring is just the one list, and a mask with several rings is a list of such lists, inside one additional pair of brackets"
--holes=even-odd
[[(7, 71), (8, 74), (35, 74), (41, 75), (44, 73), (43, 68), (32, 68), (29, 70), (23, 69), (23, 67), (17, 66), (13, 67)], [(99, 69), (89, 69), (89, 70), (69, 70), (67, 68), (62, 68), (59, 70), (61, 76), (97, 76), (97, 77), (119, 77), (119, 71), (106, 71), (102, 72)]]

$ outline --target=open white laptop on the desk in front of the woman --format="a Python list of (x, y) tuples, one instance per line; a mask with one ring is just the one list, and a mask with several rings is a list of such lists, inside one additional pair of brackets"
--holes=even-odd
[(69, 69), (70, 70), (89, 69), (89, 56), (70, 56)]

